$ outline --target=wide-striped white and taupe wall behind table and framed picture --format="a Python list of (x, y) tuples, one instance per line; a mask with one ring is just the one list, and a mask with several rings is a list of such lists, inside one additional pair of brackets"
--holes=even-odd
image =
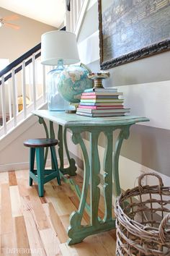
[[(99, 30), (97, 0), (91, 0), (79, 34), (81, 62), (99, 72)], [(105, 87), (116, 86), (123, 92), (125, 106), (132, 115), (146, 116), (149, 122), (135, 124), (120, 153), (122, 189), (134, 187), (142, 172), (156, 171), (165, 183), (170, 181), (170, 51), (109, 69)], [(117, 133), (116, 133), (117, 135)], [(116, 136), (115, 136), (116, 137)], [(86, 140), (88, 145), (88, 141)], [(104, 142), (99, 140), (99, 154)], [(76, 148), (73, 153), (80, 157)], [(151, 179), (148, 178), (148, 183)]]

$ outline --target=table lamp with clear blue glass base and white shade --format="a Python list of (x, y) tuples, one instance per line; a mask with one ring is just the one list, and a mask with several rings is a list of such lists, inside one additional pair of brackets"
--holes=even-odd
[(55, 69), (48, 73), (48, 109), (50, 111), (68, 111), (70, 104), (58, 92), (58, 82), (64, 65), (79, 62), (76, 35), (63, 30), (54, 30), (41, 37), (41, 63), (52, 65)]

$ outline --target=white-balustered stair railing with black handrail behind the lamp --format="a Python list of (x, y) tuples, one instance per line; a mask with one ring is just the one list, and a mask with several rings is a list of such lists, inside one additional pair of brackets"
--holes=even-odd
[[(89, 0), (66, 1), (66, 30), (77, 37), (88, 4)], [(40, 55), (39, 43), (0, 72), (0, 140), (47, 101), (45, 79), (53, 67), (40, 64)]]

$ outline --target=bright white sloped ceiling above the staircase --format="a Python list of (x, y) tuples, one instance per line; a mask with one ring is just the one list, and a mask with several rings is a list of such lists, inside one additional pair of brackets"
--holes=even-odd
[(0, 0), (0, 7), (60, 27), (65, 17), (65, 3), (66, 0)]

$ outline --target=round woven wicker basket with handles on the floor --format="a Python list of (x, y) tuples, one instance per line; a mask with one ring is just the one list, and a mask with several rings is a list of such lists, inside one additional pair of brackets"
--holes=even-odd
[[(156, 186), (142, 186), (144, 176), (158, 178)], [(117, 198), (117, 256), (170, 255), (170, 187), (157, 174), (142, 174), (138, 187)]]

